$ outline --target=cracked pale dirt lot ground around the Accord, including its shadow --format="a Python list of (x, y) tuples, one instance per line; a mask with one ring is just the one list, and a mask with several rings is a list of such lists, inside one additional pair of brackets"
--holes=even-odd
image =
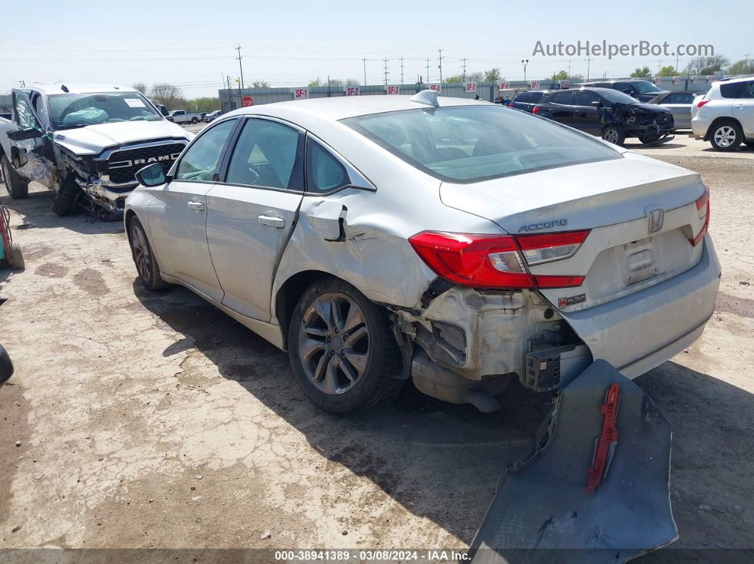
[[(754, 151), (641, 152), (710, 185), (723, 268), (703, 337), (636, 380), (673, 422), (680, 534), (643, 561), (672, 562), (754, 547)], [(516, 389), (492, 416), (411, 390), (321, 413), (283, 352), (183, 288), (143, 290), (121, 224), (57, 218), (38, 186), (4, 200), (26, 270), (0, 270), (0, 547), (464, 549), (529, 451), (544, 407)]]

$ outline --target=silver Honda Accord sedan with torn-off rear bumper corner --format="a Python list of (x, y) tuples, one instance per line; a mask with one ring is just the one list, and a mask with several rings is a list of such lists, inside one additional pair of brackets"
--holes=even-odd
[(219, 117), (125, 227), (146, 288), (190, 288), (290, 355), (318, 407), (406, 380), (480, 410), (602, 358), (688, 347), (720, 266), (699, 175), (468, 99), (353, 96)]

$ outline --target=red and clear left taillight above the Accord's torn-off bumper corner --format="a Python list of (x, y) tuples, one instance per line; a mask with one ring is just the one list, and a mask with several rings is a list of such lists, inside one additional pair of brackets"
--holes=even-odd
[(520, 237), (423, 231), (409, 238), (434, 272), (473, 288), (569, 288), (584, 276), (535, 275), (529, 264), (559, 261), (578, 250), (585, 231)]

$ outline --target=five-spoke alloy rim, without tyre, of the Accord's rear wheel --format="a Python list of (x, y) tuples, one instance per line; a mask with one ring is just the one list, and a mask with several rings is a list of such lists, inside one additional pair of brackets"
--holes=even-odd
[(348, 392), (369, 362), (364, 312), (345, 294), (320, 294), (304, 313), (298, 347), (306, 377), (317, 389), (328, 395)]

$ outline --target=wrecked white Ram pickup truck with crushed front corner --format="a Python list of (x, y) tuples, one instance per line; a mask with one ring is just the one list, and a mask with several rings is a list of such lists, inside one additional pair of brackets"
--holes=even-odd
[(34, 85), (13, 90), (11, 120), (0, 120), (0, 169), (11, 198), (37, 181), (56, 192), (57, 215), (120, 218), (136, 171), (167, 172), (193, 137), (127, 87)]

